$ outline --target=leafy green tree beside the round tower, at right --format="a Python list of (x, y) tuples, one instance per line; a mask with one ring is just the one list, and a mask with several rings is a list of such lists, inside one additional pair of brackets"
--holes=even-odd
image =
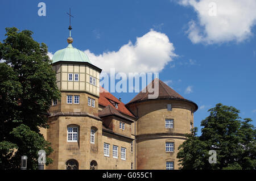
[[(239, 110), (221, 103), (211, 108), (197, 128), (179, 146), (180, 169), (256, 169), (256, 130), (251, 119), (243, 119)], [(209, 150), (217, 153), (217, 163), (210, 164)]]

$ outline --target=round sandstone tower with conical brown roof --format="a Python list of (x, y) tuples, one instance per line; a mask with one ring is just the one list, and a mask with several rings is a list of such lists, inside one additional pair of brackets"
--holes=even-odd
[(197, 104), (156, 78), (126, 106), (137, 117), (136, 169), (179, 169), (177, 148), (193, 128)]

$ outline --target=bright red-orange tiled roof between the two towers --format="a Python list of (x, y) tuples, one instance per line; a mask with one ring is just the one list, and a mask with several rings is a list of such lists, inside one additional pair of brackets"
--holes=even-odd
[[(115, 108), (115, 106), (110, 102), (110, 101), (113, 101), (113, 102), (116, 102), (118, 103), (118, 108)], [(110, 94), (110, 92), (108, 92), (107, 90), (105, 90), (103, 87), (100, 86), (100, 98), (98, 99), (98, 104), (100, 104), (101, 106), (112, 106), (115, 110), (125, 114), (125, 115), (128, 115), (128, 116), (131, 116), (131, 117), (134, 117), (134, 115), (129, 111), (127, 110), (127, 108), (125, 107), (125, 104), (122, 103), (121, 101), (119, 101), (117, 98), (115, 98), (114, 95)]]

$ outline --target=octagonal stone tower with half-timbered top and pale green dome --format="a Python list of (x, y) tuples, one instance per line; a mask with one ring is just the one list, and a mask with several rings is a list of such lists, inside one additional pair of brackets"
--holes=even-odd
[[(101, 69), (92, 65), (72, 42), (69, 37), (68, 47), (58, 50), (52, 58), (61, 100), (53, 100), (48, 117), (50, 129), (44, 132), (54, 150), (50, 155), (53, 164), (47, 169), (90, 169), (90, 162), (101, 153), (102, 120), (98, 117)], [(90, 144), (92, 130), (97, 138), (94, 144)]]

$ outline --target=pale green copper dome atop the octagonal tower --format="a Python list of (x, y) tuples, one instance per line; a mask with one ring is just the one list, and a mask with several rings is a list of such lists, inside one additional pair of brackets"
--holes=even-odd
[(52, 63), (58, 61), (74, 61), (74, 62), (89, 62), (88, 56), (79, 49), (76, 49), (69, 43), (67, 48), (57, 50), (52, 57)]

